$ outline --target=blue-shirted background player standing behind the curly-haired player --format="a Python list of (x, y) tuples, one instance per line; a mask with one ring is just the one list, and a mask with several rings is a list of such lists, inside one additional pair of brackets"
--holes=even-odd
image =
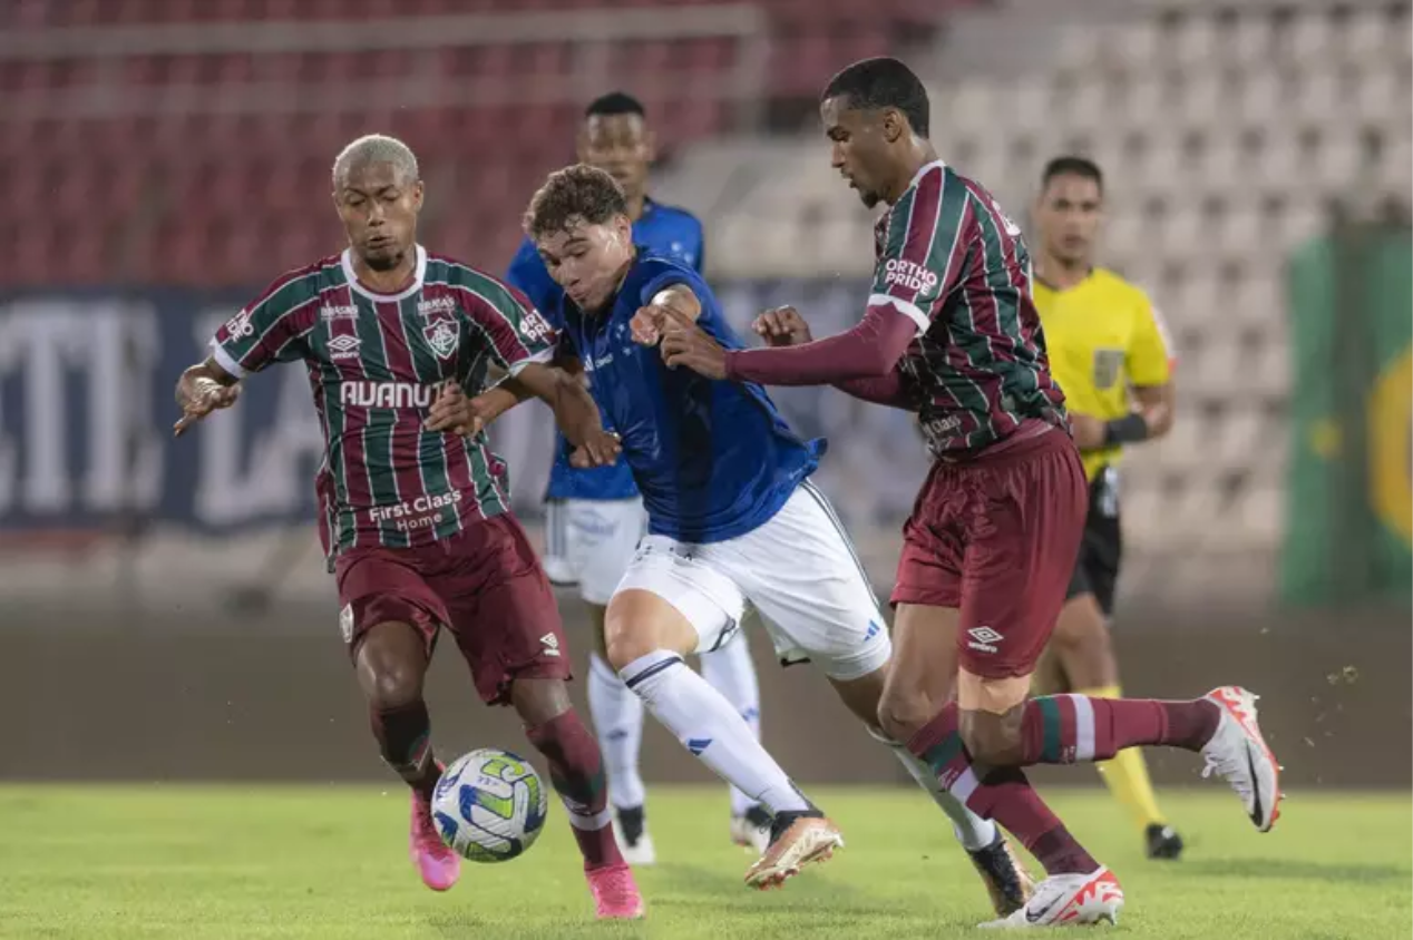
[[(654, 150), (653, 133), (637, 99), (613, 92), (586, 109), (578, 135), (579, 159), (603, 169), (623, 188), (633, 240), (699, 274), (705, 248), (701, 223), (690, 212), (647, 196)], [(524, 291), (557, 327), (562, 326), (555, 312), (564, 291), (550, 277), (530, 239), (516, 253), (506, 279)], [(644, 789), (639, 771), (643, 703), (605, 662), (602, 639), (603, 611), (633, 559), (647, 515), (626, 463), (575, 469), (569, 466), (569, 443), (558, 433), (554, 453), (545, 493), (544, 567), (557, 584), (578, 583), (579, 596), (588, 605), (596, 642), (589, 655), (589, 714), (608, 765), (613, 831), (630, 864), (650, 865), (654, 848), (643, 813)], [(726, 696), (759, 737), (760, 689), (745, 637), (738, 635), (721, 649), (704, 653), (701, 668), (706, 682)], [(756, 851), (764, 851), (770, 840), (769, 813), (735, 788), (731, 790), (731, 837)]]

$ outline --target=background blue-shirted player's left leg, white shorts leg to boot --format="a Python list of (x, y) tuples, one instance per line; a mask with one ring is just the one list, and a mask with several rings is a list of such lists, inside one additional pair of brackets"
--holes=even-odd
[(579, 573), (579, 597), (589, 614), (589, 717), (598, 731), (609, 778), (613, 833), (632, 865), (651, 865), (657, 857), (647, 831), (646, 790), (639, 769), (643, 744), (643, 701), (608, 663), (603, 618), (609, 598), (633, 560), (643, 535), (639, 500), (569, 500), (562, 504), (569, 531), (571, 560)]

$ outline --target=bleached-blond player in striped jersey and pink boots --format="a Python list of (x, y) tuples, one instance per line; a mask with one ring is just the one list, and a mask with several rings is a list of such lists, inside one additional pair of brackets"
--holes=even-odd
[(422, 701), (445, 628), (480, 697), (514, 706), (548, 762), (598, 916), (642, 916), (599, 747), (565, 690), (560, 613), (468, 395), (495, 367), (550, 404), (579, 466), (612, 463), (617, 443), (578, 382), (547, 364), (555, 330), (524, 296), (417, 243), (422, 182), (404, 144), (349, 144), (333, 164), (333, 203), (349, 247), (278, 278), (216, 332), (211, 357), (177, 384), (175, 432), (233, 405), (247, 373), (304, 364), (324, 426), (319, 536), (339, 627), (383, 759), (413, 790), (422, 881), (445, 891), (459, 874), (430, 812), (441, 768)]

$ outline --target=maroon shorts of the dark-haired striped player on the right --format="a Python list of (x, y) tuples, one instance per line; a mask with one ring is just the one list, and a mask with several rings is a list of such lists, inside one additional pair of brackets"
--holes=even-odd
[(903, 526), (893, 603), (959, 608), (966, 672), (1030, 675), (1060, 618), (1088, 502), (1080, 452), (1061, 430), (937, 460)]

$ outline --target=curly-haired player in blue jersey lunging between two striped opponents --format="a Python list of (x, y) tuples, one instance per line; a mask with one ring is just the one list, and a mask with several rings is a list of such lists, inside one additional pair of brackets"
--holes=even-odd
[[(877, 727), (892, 641), (848, 535), (808, 480), (824, 442), (798, 438), (759, 385), (663, 363), (654, 325), (667, 309), (740, 343), (695, 271), (633, 244), (623, 191), (606, 172), (551, 174), (526, 230), (565, 292), (557, 361), (589, 375), (647, 508), (649, 535), (609, 600), (608, 659), (684, 747), (770, 810), (770, 844), (746, 884), (779, 885), (842, 844), (736, 709), (682, 662), (729, 642), (753, 607), (780, 661), (818, 665), (951, 817), (996, 909), (1019, 909), (1029, 878), (1000, 831)], [(478, 421), (523, 394), (512, 381), (478, 397)]]

